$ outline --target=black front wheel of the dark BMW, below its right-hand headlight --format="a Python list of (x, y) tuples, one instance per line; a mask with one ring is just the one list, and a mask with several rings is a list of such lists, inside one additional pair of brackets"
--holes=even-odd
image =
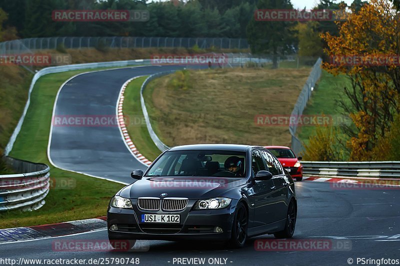
[(248, 215), (244, 204), (239, 203), (233, 218), (232, 236), (229, 240), (231, 248), (242, 248), (247, 239)]

